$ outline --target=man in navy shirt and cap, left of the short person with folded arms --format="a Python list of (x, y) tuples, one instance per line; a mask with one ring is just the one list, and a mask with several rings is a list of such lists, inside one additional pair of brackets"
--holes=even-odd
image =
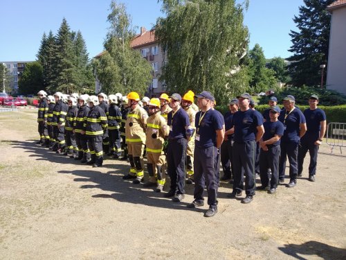
[[(233, 144), (234, 182), (229, 198), (242, 196), (243, 174), (246, 175), (246, 198), (242, 203), (250, 203), (255, 195), (255, 153), (256, 142), (264, 133), (262, 115), (251, 110), (248, 93), (237, 96), (240, 111), (234, 114), (231, 127), (235, 127)], [(244, 173), (242, 171), (244, 168)]]

